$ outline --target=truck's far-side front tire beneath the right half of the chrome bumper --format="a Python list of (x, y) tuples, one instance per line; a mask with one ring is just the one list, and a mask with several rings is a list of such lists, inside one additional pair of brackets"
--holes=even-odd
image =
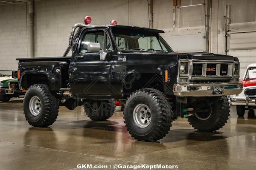
[[(201, 103), (207, 103), (207, 101), (201, 100)], [(200, 107), (195, 105), (195, 107)], [(230, 105), (227, 96), (221, 96), (217, 101), (210, 103), (207, 106), (208, 112), (200, 113), (188, 117), (189, 124), (192, 125), (198, 131), (212, 132), (222, 128), (230, 116)]]

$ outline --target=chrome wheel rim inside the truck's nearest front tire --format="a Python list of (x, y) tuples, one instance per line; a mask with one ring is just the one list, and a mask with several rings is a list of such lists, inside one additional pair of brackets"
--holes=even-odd
[(147, 105), (139, 104), (134, 108), (133, 118), (138, 127), (148, 127), (151, 123), (151, 117), (151, 111)]

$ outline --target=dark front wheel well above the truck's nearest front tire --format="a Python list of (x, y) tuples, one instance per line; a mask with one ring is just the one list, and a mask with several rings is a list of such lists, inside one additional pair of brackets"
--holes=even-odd
[(134, 91), (142, 88), (154, 88), (163, 92), (164, 82), (160, 74), (155, 73), (132, 73), (125, 77), (123, 93), (128, 97)]

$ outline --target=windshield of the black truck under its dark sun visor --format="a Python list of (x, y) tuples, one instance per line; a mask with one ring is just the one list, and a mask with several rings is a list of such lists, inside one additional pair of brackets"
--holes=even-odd
[(112, 28), (116, 46), (120, 51), (163, 51), (172, 52), (169, 45), (156, 32), (142, 29)]

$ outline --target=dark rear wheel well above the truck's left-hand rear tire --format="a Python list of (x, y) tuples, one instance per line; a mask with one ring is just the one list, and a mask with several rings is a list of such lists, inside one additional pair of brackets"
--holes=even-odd
[(21, 85), (23, 89), (28, 89), (31, 85), (48, 85), (48, 78), (45, 74), (25, 74), (22, 76)]

